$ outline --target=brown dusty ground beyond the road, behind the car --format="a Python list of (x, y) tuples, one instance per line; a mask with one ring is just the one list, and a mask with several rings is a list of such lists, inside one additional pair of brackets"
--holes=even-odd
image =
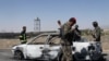
[[(88, 40), (93, 40), (90, 36), (84, 36)], [(109, 35), (101, 36), (102, 49), (109, 50)], [(10, 49), (14, 45), (19, 45), (19, 39), (0, 39), (0, 49)]]

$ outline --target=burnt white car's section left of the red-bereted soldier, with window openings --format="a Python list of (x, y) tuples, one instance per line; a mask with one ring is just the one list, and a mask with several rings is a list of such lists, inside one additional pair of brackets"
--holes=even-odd
[(27, 44), (17, 45), (12, 48), (15, 59), (39, 59), (58, 60), (60, 52), (60, 39), (58, 33), (40, 34)]

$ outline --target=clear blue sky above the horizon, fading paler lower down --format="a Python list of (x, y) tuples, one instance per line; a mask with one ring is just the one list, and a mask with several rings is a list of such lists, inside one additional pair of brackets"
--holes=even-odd
[(40, 19), (41, 30), (58, 30), (57, 21), (75, 17), (80, 29), (92, 28), (92, 22), (109, 26), (109, 0), (0, 0), (0, 32), (34, 32), (34, 20)]

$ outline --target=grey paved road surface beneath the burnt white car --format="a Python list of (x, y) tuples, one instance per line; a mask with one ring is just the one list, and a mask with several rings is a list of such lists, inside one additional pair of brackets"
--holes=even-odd
[[(105, 56), (106, 60), (109, 61), (109, 53)], [(9, 49), (0, 49), (0, 61), (38, 61), (38, 60), (15, 60)]]

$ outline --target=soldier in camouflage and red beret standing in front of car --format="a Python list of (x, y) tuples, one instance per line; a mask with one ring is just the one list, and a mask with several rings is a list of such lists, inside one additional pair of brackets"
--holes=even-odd
[(61, 45), (62, 45), (62, 61), (73, 61), (72, 59), (72, 26), (76, 23), (75, 17), (71, 17), (69, 22), (61, 26)]

